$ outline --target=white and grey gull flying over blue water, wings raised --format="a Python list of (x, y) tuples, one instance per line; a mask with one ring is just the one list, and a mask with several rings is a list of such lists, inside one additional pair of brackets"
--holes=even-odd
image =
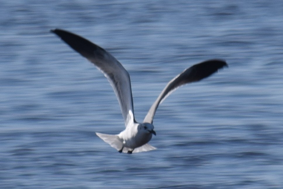
[(144, 121), (138, 123), (134, 118), (130, 75), (122, 64), (109, 52), (79, 35), (61, 29), (51, 30), (51, 32), (58, 35), (71, 48), (92, 62), (105, 75), (113, 87), (126, 128), (117, 135), (102, 133), (96, 133), (96, 135), (120, 153), (132, 154), (156, 150), (148, 142), (151, 140), (152, 135), (156, 135), (153, 127), (153, 117), (158, 105), (177, 87), (199, 81), (215, 73), (218, 69), (227, 66), (227, 63), (223, 60), (211, 59), (185, 69), (165, 86), (152, 104)]

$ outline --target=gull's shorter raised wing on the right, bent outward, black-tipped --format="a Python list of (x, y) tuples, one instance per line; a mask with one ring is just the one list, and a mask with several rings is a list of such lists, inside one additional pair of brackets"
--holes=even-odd
[(159, 94), (158, 98), (152, 104), (151, 108), (146, 114), (144, 123), (152, 124), (158, 105), (163, 102), (163, 100), (168, 97), (169, 94), (171, 94), (177, 87), (206, 78), (218, 71), (218, 69), (223, 68), (223, 66), (228, 66), (225, 61), (212, 59), (195, 64), (194, 66), (185, 69), (182, 73), (173, 78)]

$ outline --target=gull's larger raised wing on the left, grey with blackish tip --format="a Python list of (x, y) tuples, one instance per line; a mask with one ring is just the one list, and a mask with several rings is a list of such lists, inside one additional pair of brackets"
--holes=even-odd
[(130, 75), (110, 53), (83, 37), (71, 32), (55, 29), (51, 30), (75, 51), (92, 62), (110, 82), (118, 98), (125, 126), (136, 122)]

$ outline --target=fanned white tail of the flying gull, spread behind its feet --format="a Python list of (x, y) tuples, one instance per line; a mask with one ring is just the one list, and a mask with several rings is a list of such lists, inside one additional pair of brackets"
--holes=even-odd
[[(111, 147), (115, 148), (118, 151), (121, 150), (122, 148), (123, 148), (122, 150), (123, 153), (132, 151), (131, 148), (123, 147), (123, 142), (118, 137), (118, 135), (107, 135), (107, 134), (102, 134), (102, 133), (96, 133), (96, 135), (99, 136), (99, 138), (101, 138), (104, 142), (106, 142), (107, 144), (109, 144)], [(150, 150), (156, 150), (156, 148), (146, 143), (145, 145), (135, 148), (133, 153), (146, 152)]]

